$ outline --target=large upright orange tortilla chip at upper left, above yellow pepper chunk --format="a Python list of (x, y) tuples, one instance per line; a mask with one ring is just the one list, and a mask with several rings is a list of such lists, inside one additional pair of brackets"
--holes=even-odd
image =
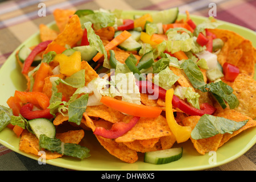
[(68, 44), (73, 47), (82, 38), (82, 34), (83, 31), (79, 16), (72, 15), (71, 18), (69, 18), (68, 23), (65, 25), (64, 30), (48, 45), (44, 53), (49, 52), (48, 48), (51, 47), (52, 44), (59, 44), (63, 47)]

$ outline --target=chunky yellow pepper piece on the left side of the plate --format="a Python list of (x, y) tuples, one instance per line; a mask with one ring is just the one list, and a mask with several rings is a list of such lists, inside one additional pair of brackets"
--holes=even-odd
[(76, 51), (71, 56), (61, 53), (55, 56), (54, 61), (59, 62), (61, 74), (71, 76), (81, 69), (81, 52)]

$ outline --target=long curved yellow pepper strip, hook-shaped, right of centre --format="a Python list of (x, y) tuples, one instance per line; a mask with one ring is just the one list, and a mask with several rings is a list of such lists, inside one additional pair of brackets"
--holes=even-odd
[(191, 137), (191, 127), (190, 126), (180, 126), (174, 118), (174, 113), (172, 111), (172, 97), (174, 96), (174, 89), (169, 89), (166, 92), (166, 120), (170, 130), (174, 134), (177, 143), (182, 143), (187, 141)]

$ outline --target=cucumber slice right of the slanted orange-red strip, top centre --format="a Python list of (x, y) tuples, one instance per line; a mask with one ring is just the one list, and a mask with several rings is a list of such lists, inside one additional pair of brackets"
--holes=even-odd
[[(115, 36), (121, 34), (122, 31), (115, 32)], [(118, 45), (118, 48), (121, 48), (125, 51), (139, 51), (141, 49), (141, 44), (136, 41), (136, 39), (141, 38), (141, 32), (138, 31), (129, 31), (131, 33), (130, 38), (126, 39), (123, 43)]]

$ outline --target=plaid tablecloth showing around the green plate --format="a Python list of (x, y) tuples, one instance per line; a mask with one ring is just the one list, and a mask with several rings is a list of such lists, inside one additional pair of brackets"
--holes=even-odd
[[(39, 3), (46, 5), (46, 16), (39, 17)], [(32, 34), (39, 30), (39, 24), (51, 23), (53, 10), (59, 9), (122, 9), (122, 10), (164, 10), (179, 7), (180, 13), (208, 16), (209, 4), (217, 5), (217, 19), (256, 30), (256, 1), (245, 0), (0, 0), (0, 67), (11, 53)], [(222, 166), (210, 168), (212, 171), (255, 171), (256, 146), (250, 148), (240, 158)], [(0, 171), (3, 170), (67, 170), (65, 168), (38, 165), (38, 161), (20, 155), (0, 144)]]

